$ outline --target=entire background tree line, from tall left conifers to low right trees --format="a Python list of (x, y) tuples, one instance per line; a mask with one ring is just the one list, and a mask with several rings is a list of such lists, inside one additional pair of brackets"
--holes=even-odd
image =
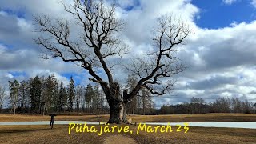
[[(123, 89), (132, 90), (136, 77), (128, 75)], [(8, 88), (0, 86), (0, 112), (30, 114), (109, 114), (109, 107), (101, 86), (75, 85), (70, 78), (67, 86), (55, 78), (38, 76), (18, 82), (9, 81)], [(7, 98), (7, 101), (5, 99)], [(7, 103), (4, 103), (7, 102)], [(2, 110), (4, 106), (7, 109)], [(191, 98), (190, 102), (177, 105), (163, 105), (156, 109), (149, 90), (142, 89), (127, 106), (127, 114), (206, 114), (206, 113), (256, 113), (256, 103), (239, 98), (217, 98), (205, 102), (202, 98)]]

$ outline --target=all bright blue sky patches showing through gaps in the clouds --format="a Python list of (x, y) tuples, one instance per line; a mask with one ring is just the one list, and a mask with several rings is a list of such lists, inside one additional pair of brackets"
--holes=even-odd
[[(226, 26), (230, 26), (231, 23), (251, 22), (256, 19), (256, 9), (250, 4), (249, 1), (238, 0), (231, 4), (226, 4), (223, 0), (192, 0), (191, 4), (197, 6), (200, 12), (194, 18), (194, 22), (200, 28), (218, 29)], [(122, 6), (122, 4), (120, 4)], [(133, 0), (130, 5), (122, 6), (124, 10), (131, 11), (134, 8), (140, 6), (140, 1)], [(18, 8), (17, 10), (11, 10), (8, 7), (0, 7), (2, 11), (10, 15), (16, 15), (18, 18), (31, 17), (30, 14), (26, 14), (25, 8)], [(143, 8), (143, 7), (142, 7)], [(11, 44), (1, 42), (2, 45), (7, 48), (11, 48)], [(14, 77), (25, 75), (26, 72), (12, 71), (10, 72)], [(62, 73), (63, 77), (70, 78), (73, 76), (77, 84), (81, 83), (81, 79), (78, 78), (77, 73)]]

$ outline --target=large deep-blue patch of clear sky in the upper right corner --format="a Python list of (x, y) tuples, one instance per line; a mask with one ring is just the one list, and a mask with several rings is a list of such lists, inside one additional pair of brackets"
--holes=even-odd
[(192, 0), (200, 9), (196, 24), (201, 28), (216, 29), (230, 26), (233, 22), (251, 22), (256, 18), (256, 9), (249, 0), (226, 4), (222, 0)]

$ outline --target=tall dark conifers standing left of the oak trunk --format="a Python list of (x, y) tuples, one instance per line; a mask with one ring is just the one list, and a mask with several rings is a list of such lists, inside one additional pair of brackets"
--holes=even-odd
[[(10, 94), (7, 96), (11, 113), (50, 114), (65, 112), (104, 113), (105, 98), (98, 86), (75, 85), (70, 78), (68, 86), (58, 81), (54, 74), (38, 76), (27, 81), (9, 81)], [(1, 99), (0, 99), (1, 100)], [(1, 103), (0, 103), (1, 104)], [(2, 106), (2, 105), (1, 105)]]

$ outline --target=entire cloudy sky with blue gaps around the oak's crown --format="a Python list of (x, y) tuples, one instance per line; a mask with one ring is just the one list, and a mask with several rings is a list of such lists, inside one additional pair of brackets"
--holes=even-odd
[[(152, 30), (163, 14), (181, 18), (193, 30), (194, 34), (186, 38), (186, 44), (178, 47), (177, 53), (187, 68), (174, 76), (177, 82), (172, 94), (154, 97), (157, 107), (189, 102), (192, 97), (206, 102), (218, 97), (256, 102), (256, 0), (117, 2), (116, 14), (126, 22), (120, 38), (130, 47), (128, 59), (150, 49)], [(34, 42), (38, 33), (33, 21), (34, 16), (41, 14), (52, 19), (72, 19), (58, 0), (0, 1), (0, 84), (8, 86), (9, 80), (22, 81), (49, 74), (54, 74), (65, 85), (70, 76), (77, 84), (91, 83), (87, 71), (72, 62), (42, 59), (44, 49)], [(104, 77), (101, 70), (98, 74)], [(126, 77), (124, 70), (114, 71), (118, 81), (124, 82)]]

